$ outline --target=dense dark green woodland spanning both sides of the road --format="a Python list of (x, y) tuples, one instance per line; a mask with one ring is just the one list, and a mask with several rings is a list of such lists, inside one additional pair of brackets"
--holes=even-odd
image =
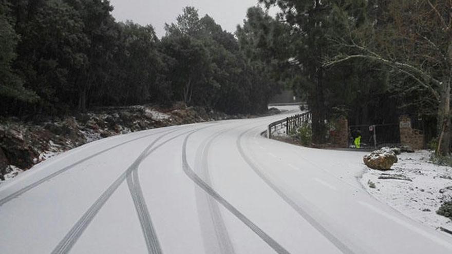
[(257, 113), (286, 88), (307, 101), (316, 143), (337, 115), (409, 114), (449, 153), (452, 1), (259, 2), (235, 34), (186, 7), (159, 39), (116, 22), (106, 0), (0, 0), (0, 113), (177, 101)]

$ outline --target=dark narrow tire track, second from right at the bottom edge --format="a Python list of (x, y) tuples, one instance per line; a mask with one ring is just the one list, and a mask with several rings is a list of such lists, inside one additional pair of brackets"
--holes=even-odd
[(205, 183), (190, 167), (189, 163), (187, 162), (187, 154), (186, 154), (186, 148), (187, 148), (187, 141), (190, 138), (190, 136), (195, 133), (195, 131), (192, 131), (190, 134), (188, 134), (183, 142), (182, 145), (182, 168), (187, 177), (189, 177), (193, 182), (195, 182), (196, 185), (198, 185), (201, 189), (203, 189), (206, 193), (208, 193), (212, 198), (214, 198), (218, 203), (220, 203), (224, 208), (228, 209), (232, 214), (234, 214), (237, 219), (242, 221), (245, 225), (247, 225), (253, 232), (256, 233), (257, 236), (259, 236), (263, 241), (265, 241), (272, 249), (274, 249), (277, 253), (280, 254), (290, 254), (289, 251), (287, 251), (283, 246), (281, 246), (278, 242), (276, 242), (273, 238), (271, 238), (269, 235), (267, 235), (266, 232), (264, 232), (262, 229), (260, 229), (256, 224), (254, 224), (250, 219), (248, 219), (246, 216), (244, 216), (243, 213), (241, 213), (237, 208), (235, 208), (231, 203), (229, 203), (227, 200), (225, 200), (223, 197), (221, 197), (218, 192), (216, 192), (210, 185)]

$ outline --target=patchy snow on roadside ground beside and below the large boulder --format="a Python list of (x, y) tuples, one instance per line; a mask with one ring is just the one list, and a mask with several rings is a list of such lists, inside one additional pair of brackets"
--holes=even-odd
[[(407, 217), (432, 228), (452, 228), (449, 219), (436, 213), (444, 201), (452, 200), (452, 168), (432, 164), (430, 152), (426, 150), (402, 153), (398, 158), (399, 162), (392, 166), (391, 171), (366, 169), (361, 178), (364, 188)], [(379, 179), (388, 176), (385, 174), (407, 179)]]

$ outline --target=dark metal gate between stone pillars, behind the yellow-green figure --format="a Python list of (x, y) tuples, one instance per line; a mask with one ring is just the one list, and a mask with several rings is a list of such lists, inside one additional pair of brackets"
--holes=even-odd
[(357, 135), (361, 135), (362, 149), (400, 146), (399, 124), (352, 125), (349, 127), (350, 148), (356, 148)]

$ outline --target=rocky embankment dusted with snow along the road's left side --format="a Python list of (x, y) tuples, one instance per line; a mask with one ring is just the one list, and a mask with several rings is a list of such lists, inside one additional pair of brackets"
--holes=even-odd
[[(278, 113), (271, 110), (269, 113)], [(249, 118), (176, 105), (100, 108), (40, 121), (0, 119), (0, 183), (56, 154), (112, 135), (164, 126)]]

